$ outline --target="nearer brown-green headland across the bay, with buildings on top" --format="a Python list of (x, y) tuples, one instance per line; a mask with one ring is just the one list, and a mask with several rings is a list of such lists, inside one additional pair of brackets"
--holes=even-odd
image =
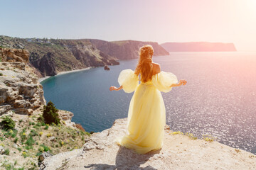
[[(0, 36), (0, 49), (5, 47), (26, 49), (23, 50), (26, 52), (28, 50), (30, 52), (29, 62), (41, 72), (43, 77), (73, 69), (119, 64), (117, 58), (98, 50), (89, 40), (25, 39)], [(3, 61), (6, 61), (5, 58), (8, 57), (3, 57)], [(18, 62), (22, 61), (18, 60)]]

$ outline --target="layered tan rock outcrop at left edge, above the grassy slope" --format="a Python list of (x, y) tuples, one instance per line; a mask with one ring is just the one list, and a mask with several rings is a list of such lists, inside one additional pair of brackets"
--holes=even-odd
[(7, 111), (31, 114), (46, 105), (43, 86), (23, 62), (0, 62), (0, 115)]

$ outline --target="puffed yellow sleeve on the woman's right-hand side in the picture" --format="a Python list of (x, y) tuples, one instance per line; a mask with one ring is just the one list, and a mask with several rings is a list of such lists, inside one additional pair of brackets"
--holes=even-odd
[(167, 93), (171, 91), (171, 84), (178, 83), (178, 79), (176, 75), (172, 74), (171, 72), (159, 72), (152, 77), (152, 83), (156, 89)]

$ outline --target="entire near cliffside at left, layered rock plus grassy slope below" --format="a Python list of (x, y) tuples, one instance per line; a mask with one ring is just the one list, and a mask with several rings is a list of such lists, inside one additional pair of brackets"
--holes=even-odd
[(22, 50), (9, 52), (15, 56), (0, 62), (0, 169), (38, 169), (50, 155), (81, 148), (90, 133), (72, 122), (69, 111), (58, 110), (60, 123), (47, 124), (36, 70), (19, 55)]

